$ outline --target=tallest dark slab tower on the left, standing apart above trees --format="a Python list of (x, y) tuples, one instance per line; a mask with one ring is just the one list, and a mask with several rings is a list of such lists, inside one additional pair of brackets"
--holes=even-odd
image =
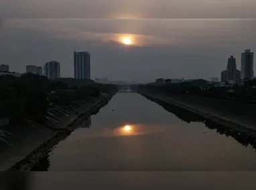
[(90, 79), (90, 53), (74, 51), (74, 78)]

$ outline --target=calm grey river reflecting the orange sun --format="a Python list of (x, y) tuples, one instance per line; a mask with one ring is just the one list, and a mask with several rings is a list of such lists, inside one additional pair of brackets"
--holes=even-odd
[(255, 143), (181, 114), (117, 93), (32, 171), (255, 171)]

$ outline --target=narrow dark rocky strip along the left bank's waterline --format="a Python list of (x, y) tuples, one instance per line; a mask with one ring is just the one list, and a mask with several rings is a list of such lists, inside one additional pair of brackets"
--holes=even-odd
[(68, 135), (70, 135), (70, 133), (72, 133), (72, 131), (77, 128), (79, 123), (86, 120), (90, 115), (97, 114), (99, 112), (99, 109), (107, 105), (112, 97), (113, 96), (103, 97), (97, 100), (97, 102), (95, 102), (91, 107), (88, 107), (84, 111), (84, 113), (80, 113), (78, 117), (76, 117), (71, 123), (66, 125), (65, 129), (62, 129), (61, 131), (55, 133), (53, 137), (42, 143), (37, 149), (29, 153), (29, 155), (27, 155), (24, 159), (21, 159), (21, 161), (15, 163), (15, 165), (7, 169), (7, 171), (30, 171), (40, 162), (40, 159), (48, 155), (48, 153), (56, 144), (66, 139), (66, 137), (68, 137)]

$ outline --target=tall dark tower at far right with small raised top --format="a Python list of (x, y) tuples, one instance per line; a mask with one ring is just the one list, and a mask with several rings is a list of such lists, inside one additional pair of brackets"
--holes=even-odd
[(241, 79), (253, 78), (253, 52), (245, 49), (241, 56)]

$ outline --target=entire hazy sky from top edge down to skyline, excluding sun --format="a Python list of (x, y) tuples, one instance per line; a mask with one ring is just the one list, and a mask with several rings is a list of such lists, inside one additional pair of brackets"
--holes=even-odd
[[(61, 63), (90, 51), (94, 77), (219, 77), (230, 55), (256, 51), (255, 0), (1, 0), (0, 63)], [(133, 45), (120, 43), (130, 37)]]

